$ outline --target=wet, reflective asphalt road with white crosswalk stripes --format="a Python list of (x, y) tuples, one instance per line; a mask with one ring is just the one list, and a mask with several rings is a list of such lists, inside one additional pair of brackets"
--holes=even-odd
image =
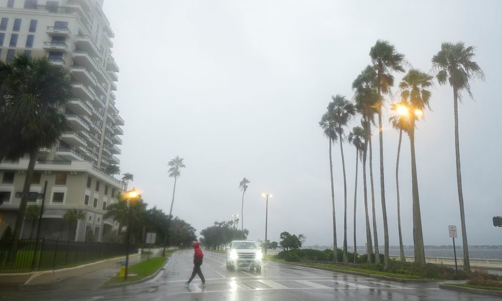
[(206, 287), (199, 287), (198, 277), (187, 287), (184, 282), (192, 271), (192, 255), (192, 251), (174, 253), (165, 271), (141, 284), (48, 292), (13, 300), (500, 300), (494, 296), (439, 289), (437, 283), (405, 284), (273, 262), (268, 262), (261, 274), (248, 269), (228, 271), (225, 255), (207, 251), (202, 265)]

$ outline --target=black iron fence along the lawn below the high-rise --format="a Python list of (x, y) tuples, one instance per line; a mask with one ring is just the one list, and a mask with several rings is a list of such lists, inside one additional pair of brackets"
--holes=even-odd
[[(130, 253), (138, 248), (130, 246)], [(70, 267), (96, 259), (123, 256), (125, 244), (35, 239), (0, 241), (0, 273)]]

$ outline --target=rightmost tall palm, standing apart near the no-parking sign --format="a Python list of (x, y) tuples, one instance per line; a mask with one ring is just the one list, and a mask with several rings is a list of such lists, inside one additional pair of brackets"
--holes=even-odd
[(460, 92), (466, 90), (472, 98), (469, 80), (477, 77), (484, 80), (484, 73), (474, 57), (474, 47), (465, 47), (463, 42), (443, 43), (441, 50), (432, 58), (432, 67), (437, 71), (437, 80), (440, 85), (447, 82), (453, 88), (453, 114), (455, 116), (455, 162), (457, 169), (457, 191), (460, 206), (460, 223), (462, 226), (462, 243), (464, 251), (464, 270), (470, 271), (469, 248), (467, 244), (467, 230), (465, 228), (464, 197), (462, 193), (462, 175), (460, 173), (460, 142), (458, 137), (458, 99)]

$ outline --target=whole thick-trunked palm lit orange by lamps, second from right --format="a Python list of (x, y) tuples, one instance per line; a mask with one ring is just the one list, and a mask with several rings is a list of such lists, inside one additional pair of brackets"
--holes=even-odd
[(420, 212), (420, 198), (418, 194), (417, 161), (415, 155), (415, 122), (423, 116), (425, 107), (429, 107), (433, 77), (417, 69), (410, 69), (399, 84), (401, 99), (410, 103), (408, 114), (411, 148), (411, 172), (413, 195), (413, 238), (415, 242), (415, 262), (425, 266), (424, 236), (422, 233), (422, 216)]

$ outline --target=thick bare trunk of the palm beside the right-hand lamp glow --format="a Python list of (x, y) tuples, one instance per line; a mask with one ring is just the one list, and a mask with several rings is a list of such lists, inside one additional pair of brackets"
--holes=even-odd
[(417, 161), (415, 156), (415, 120), (410, 124), (411, 146), (411, 177), (413, 193), (413, 238), (415, 240), (415, 262), (425, 266), (424, 236), (422, 234), (422, 217), (420, 214), (420, 199), (418, 195)]

